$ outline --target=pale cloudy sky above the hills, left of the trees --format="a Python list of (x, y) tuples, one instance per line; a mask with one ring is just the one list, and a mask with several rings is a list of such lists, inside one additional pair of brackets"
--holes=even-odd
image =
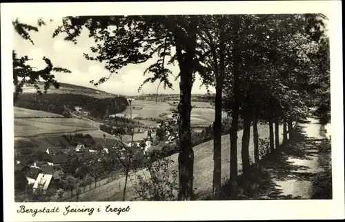
[[(37, 19), (34, 17), (18, 18), (20, 22), (27, 23), (32, 26), (37, 26)], [(52, 19), (52, 21), (50, 21)], [(90, 46), (94, 46), (95, 42), (92, 38), (88, 37), (88, 30), (83, 30), (80, 37), (77, 39), (77, 45), (69, 41), (63, 40), (65, 35), (52, 38), (54, 30), (61, 25), (62, 18), (43, 18), (46, 21), (46, 26), (41, 26), (39, 32), (30, 32), (30, 37), (34, 41), (34, 45), (30, 41), (23, 39), (14, 32), (13, 34), (13, 48), (19, 56), (28, 55), (32, 61), (30, 65), (36, 68), (44, 68), (46, 65), (42, 60), (43, 57), (47, 57), (52, 61), (52, 64), (56, 67), (67, 68), (72, 73), (56, 73), (55, 79), (61, 83), (70, 83), (75, 85), (82, 85), (90, 88), (95, 88), (90, 84), (90, 80), (98, 81), (101, 77), (108, 77), (110, 72), (103, 67), (103, 64), (97, 61), (89, 61), (83, 57), (83, 53), (90, 52)], [(155, 60), (156, 58), (152, 58)], [(144, 77), (144, 70), (148, 68), (148, 65), (152, 63), (147, 61), (137, 65), (127, 65), (119, 70), (118, 74), (112, 75), (112, 77), (101, 85), (97, 86), (98, 90), (103, 90), (115, 94), (145, 94), (156, 93), (159, 81), (155, 83), (146, 83), (143, 86), (142, 91), (138, 92), (138, 88), (146, 79)], [(170, 66), (170, 70), (174, 76), (179, 73), (178, 65)], [(150, 74), (147, 75), (150, 77)], [(201, 80), (199, 75), (195, 78), (193, 85), (193, 94), (206, 93), (205, 86), (201, 86)], [(175, 77), (171, 76), (172, 90), (162, 87), (159, 88), (159, 93), (179, 93), (179, 79), (175, 81)], [(210, 89), (213, 91), (213, 89)]]

